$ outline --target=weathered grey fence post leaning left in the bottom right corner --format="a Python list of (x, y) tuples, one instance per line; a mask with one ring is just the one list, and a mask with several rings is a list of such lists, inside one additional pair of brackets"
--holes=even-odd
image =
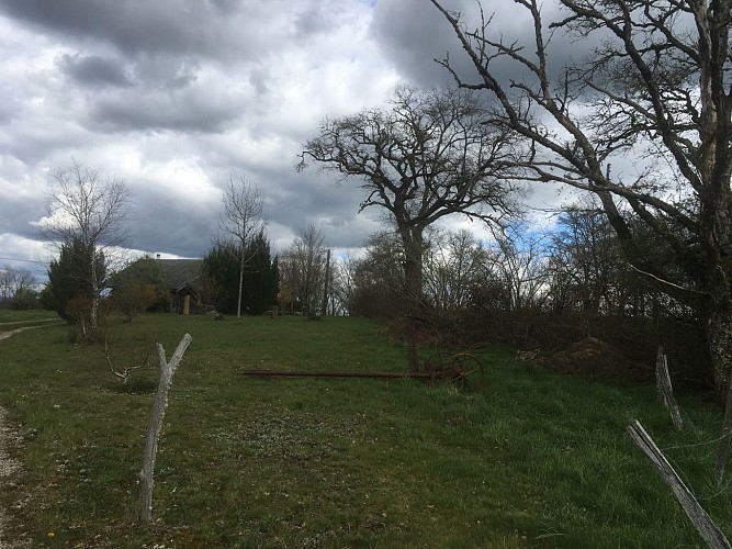
[(684, 481), (678, 477), (674, 468), (671, 466), (666, 457), (658, 449), (651, 436), (645, 432), (640, 422), (633, 422), (627, 427), (630, 436), (633, 437), (635, 444), (647, 456), (653, 466), (661, 474), (661, 478), (671, 488), (678, 500), (678, 503), (684, 507), (684, 512), (694, 523), (695, 528), (701, 535), (707, 546), (711, 549), (730, 549), (730, 542), (722, 534), (717, 525), (712, 522), (707, 512), (699, 505), (697, 498), (691, 491), (686, 488)]

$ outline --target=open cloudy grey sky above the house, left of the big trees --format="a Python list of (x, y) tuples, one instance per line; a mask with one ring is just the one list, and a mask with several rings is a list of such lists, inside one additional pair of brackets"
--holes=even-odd
[(379, 212), (357, 215), (357, 183), (297, 173), (296, 155), (326, 115), (448, 82), (432, 60), (448, 49), (427, 0), (0, 0), (0, 265), (43, 277), (38, 222), (72, 160), (127, 182), (135, 250), (201, 257), (241, 175), (277, 249), (311, 223), (357, 248)]

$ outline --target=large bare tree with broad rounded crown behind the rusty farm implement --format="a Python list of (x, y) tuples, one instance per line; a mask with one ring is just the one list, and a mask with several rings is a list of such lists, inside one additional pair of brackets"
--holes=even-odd
[(419, 300), (425, 229), (463, 214), (496, 222), (516, 206), (515, 187), (499, 179), (513, 155), (510, 133), (484, 124), (482, 104), (458, 89), (398, 89), (386, 108), (325, 120), (303, 149), (307, 159), (361, 180), (369, 206), (396, 225), (407, 290)]

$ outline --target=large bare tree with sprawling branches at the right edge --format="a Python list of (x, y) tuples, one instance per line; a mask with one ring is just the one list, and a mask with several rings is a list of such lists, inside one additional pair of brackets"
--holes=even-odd
[[(539, 0), (514, 0), (532, 23), (521, 42), (492, 18), (468, 26), (430, 1), (474, 72), (441, 63), (496, 102), (493, 123), (526, 139), (532, 157), (517, 177), (599, 199), (632, 268), (696, 310), (711, 379), (723, 388), (732, 363), (732, 2), (558, 0), (545, 20)], [(556, 70), (573, 40), (595, 47)], [(642, 253), (649, 228), (672, 259), (665, 266)]]

